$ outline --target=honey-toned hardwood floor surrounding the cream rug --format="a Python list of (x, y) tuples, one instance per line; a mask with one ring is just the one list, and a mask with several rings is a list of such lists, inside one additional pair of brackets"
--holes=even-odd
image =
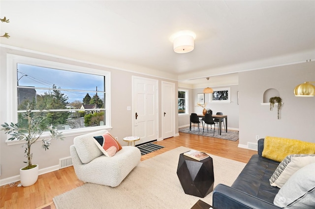
[[(248, 162), (250, 157), (257, 153), (257, 151), (238, 148), (238, 141), (229, 141), (181, 132), (180, 136), (171, 137), (155, 143), (165, 148), (144, 155), (141, 157), (141, 160), (157, 156), (158, 154), (180, 146), (241, 162)], [(40, 175), (37, 182), (32, 186), (2, 186), (0, 188), (0, 208), (42, 209), (47, 207), (47, 209), (55, 209), (53, 197), (82, 184), (83, 182), (77, 179), (72, 166), (63, 168), (58, 171)]]

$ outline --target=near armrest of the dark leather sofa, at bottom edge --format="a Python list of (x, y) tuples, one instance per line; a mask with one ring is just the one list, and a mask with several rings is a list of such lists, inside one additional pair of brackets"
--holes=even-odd
[(281, 209), (224, 184), (216, 186), (212, 201), (213, 207), (217, 209)]

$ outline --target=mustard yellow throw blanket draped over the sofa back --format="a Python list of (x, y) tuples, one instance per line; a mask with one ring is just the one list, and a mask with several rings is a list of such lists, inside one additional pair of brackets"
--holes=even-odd
[(266, 136), (262, 157), (281, 162), (286, 156), (292, 154), (315, 154), (315, 143)]

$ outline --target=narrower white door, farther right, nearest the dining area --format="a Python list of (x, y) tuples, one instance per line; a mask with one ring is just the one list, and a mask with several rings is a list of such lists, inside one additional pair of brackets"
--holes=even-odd
[(175, 83), (162, 81), (162, 138), (175, 135)]

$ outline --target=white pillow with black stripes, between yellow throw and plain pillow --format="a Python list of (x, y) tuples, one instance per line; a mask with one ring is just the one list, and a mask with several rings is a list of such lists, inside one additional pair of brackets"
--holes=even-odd
[(288, 155), (279, 164), (274, 174), (271, 176), (269, 182), (272, 186), (281, 188), (284, 183), (300, 168), (314, 163), (315, 155), (296, 154)]

